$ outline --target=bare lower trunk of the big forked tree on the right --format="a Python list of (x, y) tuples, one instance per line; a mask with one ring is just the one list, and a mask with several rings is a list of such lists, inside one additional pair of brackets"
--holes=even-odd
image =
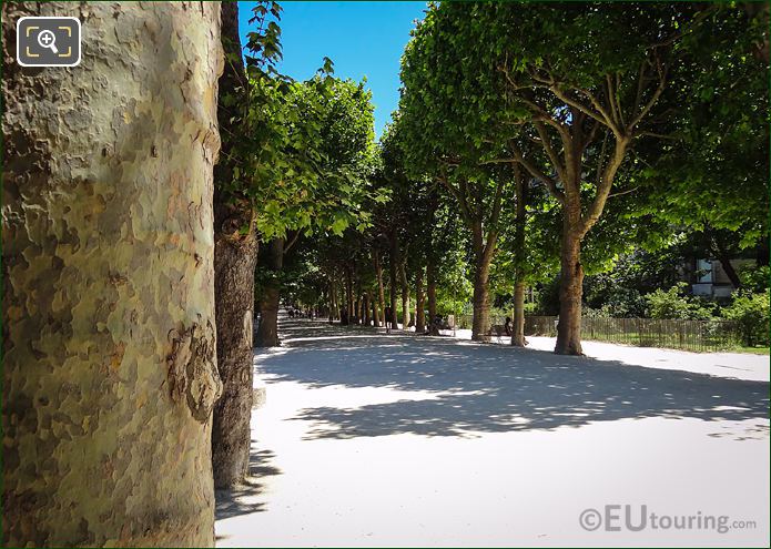
[(584, 267), (581, 265), (581, 237), (576, 230), (580, 210), (567, 205), (564, 213), (560, 251), (559, 324), (557, 345), (559, 355), (582, 355), (581, 350), (581, 296)]

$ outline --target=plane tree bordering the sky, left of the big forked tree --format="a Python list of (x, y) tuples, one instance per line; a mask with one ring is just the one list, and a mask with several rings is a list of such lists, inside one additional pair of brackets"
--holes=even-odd
[(443, 186), (471, 235), (471, 338), (487, 340), (488, 278), (501, 230), (501, 209), (514, 191), (514, 173), (506, 164), (483, 164), (490, 145), (469, 139), (468, 126), (478, 123), (468, 116), (473, 106), (466, 104), (474, 101), (474, 85), (464, 79), (464, 69), (449, 43), (443, 42), (452, 30), (439, 10), (443, 8), (429, 9), (405, 49), (398, 123), (407, 169), (414, 176), (428, 176)]

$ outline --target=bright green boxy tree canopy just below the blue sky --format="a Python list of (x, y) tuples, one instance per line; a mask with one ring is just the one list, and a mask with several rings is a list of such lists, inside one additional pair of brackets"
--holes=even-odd
[(272, 139), (251, 156), (250, 191), (260, 206), (263, 237), (324, 230), (341, 235), (351, 224), (366, 226), (359, 205), (367, 193), (372, 94), (363, 83), (323, 71), (273, 90), (274, 102), (261, 112)]

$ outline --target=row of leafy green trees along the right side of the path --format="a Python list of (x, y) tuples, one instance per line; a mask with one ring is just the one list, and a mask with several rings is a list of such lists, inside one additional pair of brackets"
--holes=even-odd
[(429, 6), (373, 171), (390, 201), (364, 237), (305, 260), (334, 265), (326, 308), (339, 292), (369, 324), (386, 258), (389, 308), (408, 325), (413, 295), (419, 329), (424, 281), (433, 317), (437, 268), (457, 277), (461, 260), (473, 338), (503, 289), (524, 345), (525, 289), (558, 271), (556, 352), (580, 354), (585, 272), (633, 250), (700, 242), (740, 286), (732, 257), (768, 263), (767, 20), (745, 4)]

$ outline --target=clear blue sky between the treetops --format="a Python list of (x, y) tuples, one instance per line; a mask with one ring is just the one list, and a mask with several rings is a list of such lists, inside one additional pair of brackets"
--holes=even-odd
[[(399, 59), (426, 2), (281, 2), (284, 61), (280, 70), (296, 80), (312, 77), (325, 55), (335, 75), (367, 78), (375, 104), (375, 134), (399, 100)], [(239, 2), (241, 40), (254, 2)]]

